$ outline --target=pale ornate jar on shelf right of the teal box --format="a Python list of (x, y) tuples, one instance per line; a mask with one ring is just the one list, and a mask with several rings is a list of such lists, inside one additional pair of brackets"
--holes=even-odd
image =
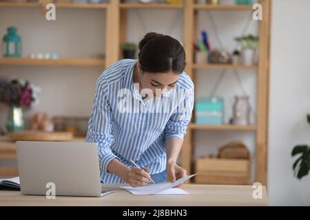
[(235, 96), (233, 124), (249, 125), (251, 107), (249, 96)]

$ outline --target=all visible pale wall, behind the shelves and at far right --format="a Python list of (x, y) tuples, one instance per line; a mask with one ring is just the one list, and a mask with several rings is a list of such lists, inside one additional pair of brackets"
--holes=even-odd
[[(223, 0), (223, 3), (233, 2)], [(271, 39), (271, 78), (269, 113), (269, 172), (268, 191), (271, 205), (310, 205), (310, 177), (298, 181), (293, 177), (291, 149), (296, 144), (308, 143), (310, 126), (305, 115), (310, 113), (310, 1), (273, 0), (273, 22)], [(23, 54), (30, 52), (58, 52), (63, 57), (94, 56), (104, 51), (105, 14), (101, 10), (59, 10), (55, 23), (46, 23), (37, 9), (0, 9), (0, 36), (8, 25), (19, 27), (23, 36)], [(81, 16), (83, 12), (83, 16)], [(225, 47), (234, 49), (234, 36), (239, 35), (245, 25), (246, 11), (211, 12), (218, 25), (226, 25), (220, 32)], [(128, 41), (138, 42), (147, 31), (163, 32), (183, 41), (183, 17), (176, 10), (141, 10), (129, 13), (130, 28)], [(158, 19), (154, 17), (158, 16)], [(199, 28), (212, 32), (205, 13), (200, 13)], [(143, 22), (141, 22), (141, 18)], [(43, 19), (43, 20), (42, 20)], [(229, 22), (227, 22), (227, 20)], [(163, 25), (165, 24), (165, 25)], [(37, 28), (40, 27), (40, 28)], [(54, 32), (53, 30), (60, 30)], [(252, 23), (247, 33), (256, 33), (257, 25)], [(229, 32), (229, 34), (228, 34)], [(211, 34), (211, 43), (218, 46)], [(89, 41), (90, 39), (90, 41)], [(56, 43), (55, 43), (56, 42)], [(100, 45), (94, 47), (94, 45)], [(72, 49), (73, 48), (73, 49)], [(102, 69), (96, 67), (10, 67), (0, 66), (0, 76), (28, 78), (41, 86), (43, 91), (37, 109), (50, 115), (88, 115), (92, 107), (94, 84)], [(256, 72), (240, 72), (245, 90), (256, 104)], [(209, 70), (197, 74), (198, 97), (211, 91), (218, 71)], [(201, 82), (207, 82), (201, 83)], [(231, 93), (227, 93), (229, 88)], [(226, 104), (225, 118), (231, 117), (233, 95), (241, 94), (232, 72), (227, 72), (218, 89)], [(0, 123), (6, 120), (7, 109), (0, 105)], [(252, 115), (254, 122), (254, 115)], [(216, 138), (215, 138), (216, 137)], [(198, 131), (196, 133), (196, 156), (216, 153), (216, 147), (232, 139), (242, 140), (254, 155), (255, 136), (253, 132)], [(0, 162), (1, 166), (1, 162)]]

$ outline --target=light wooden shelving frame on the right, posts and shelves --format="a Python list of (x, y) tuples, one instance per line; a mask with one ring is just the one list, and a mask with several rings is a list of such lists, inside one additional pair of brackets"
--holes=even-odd
[[(200, 125), (189, 124), (187, 135), (182, 148), (182, 166), (187, 170), (192, 170), (194, 162), (194, 132), (196, 130), (218, 130), (218, 131), (251, 131), (256, 133), (256, 174), (255, 181), (267, 184), (267, 113), (268, 113), (268, 83), (269, 83), (269, 38), (270, 38), (270, 14), (271, 1), (262, 0), (263, 20), (259, 21), (259, 38), (260, 38), (260, 57), (258, 66), (242, 65), (211, 65), (195, 64), (192, 58), (194, 50), (192, 42), (195, 40), (197, 31), (197, 10), (252, 10), (252, 5), (197, 5), (194, 1), (185, 1), (184, 5), (184, 38), (185, 52), (187, 54), (187, 67), (185, 71), (191, 78), (196, 79), (196, 70), (198, 69), (242, 69), (256, 70), (257, 72), (257, 124), (255, 126), (234, 126), (234, 125)], [(193, 171), (193, 170), (192, 170)]]

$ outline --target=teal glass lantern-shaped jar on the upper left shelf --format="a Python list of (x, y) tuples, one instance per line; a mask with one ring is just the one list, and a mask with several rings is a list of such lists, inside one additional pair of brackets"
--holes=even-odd
[(3, 36), (3, 56), (20, 57), (21, 56), (21, 37), (17, 34), (17, 28), (8, 27), (8, 34)]

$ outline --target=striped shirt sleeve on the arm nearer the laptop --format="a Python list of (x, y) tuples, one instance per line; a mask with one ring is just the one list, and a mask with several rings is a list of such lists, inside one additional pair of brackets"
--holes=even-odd
[(100, 167), (108, 173), (107, 165), (116, 158), (112, 153), (111, 145), (114, 142), (112, 135), (112, 109), (107, 101), (107, 83), (105, 76), (99, 77), (96, 83), (94, 104), (88, 124), (86, 142), (94, 142), (98, 145)]

